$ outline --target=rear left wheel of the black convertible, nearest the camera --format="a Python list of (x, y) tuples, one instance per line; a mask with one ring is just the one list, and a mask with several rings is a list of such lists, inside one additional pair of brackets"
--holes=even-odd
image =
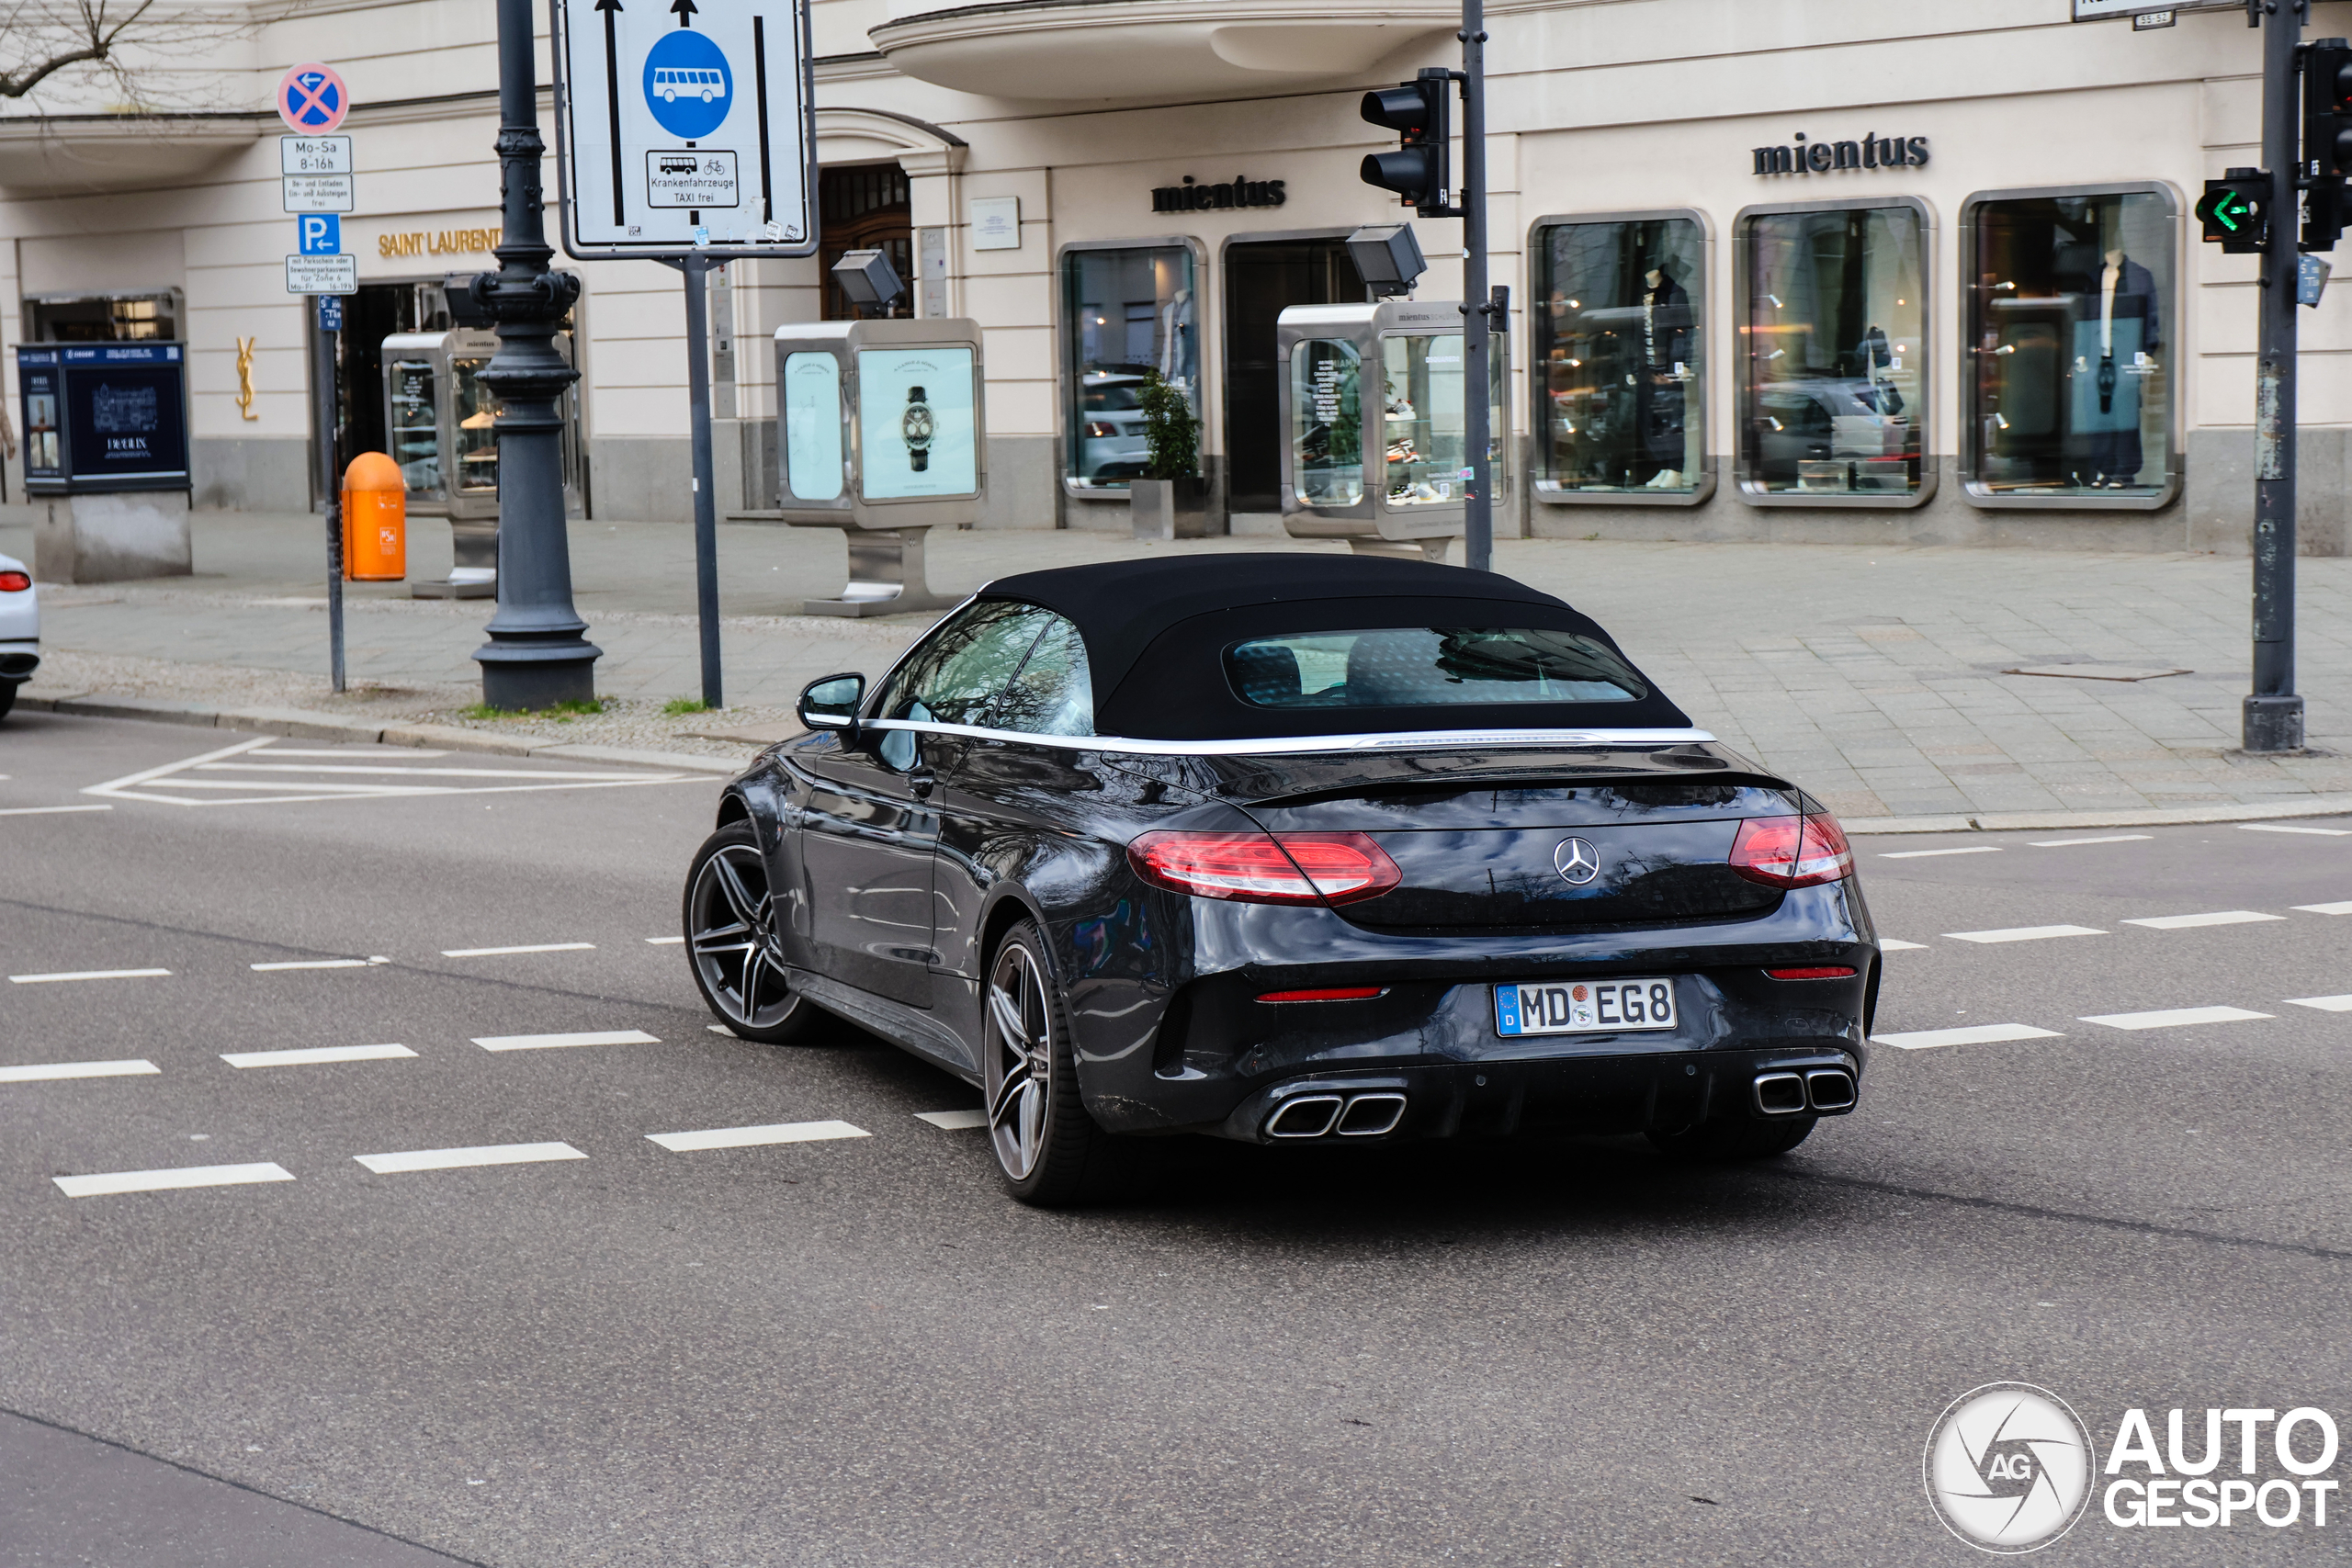
[(1084, 1201), (1101, 1185), (1110, 1135), (1080, 1100), (1070, 1011), (1037, 922), (997, 943), (981, 1006), (981, 1093), (1004, 1190), (1037, 1208)]

